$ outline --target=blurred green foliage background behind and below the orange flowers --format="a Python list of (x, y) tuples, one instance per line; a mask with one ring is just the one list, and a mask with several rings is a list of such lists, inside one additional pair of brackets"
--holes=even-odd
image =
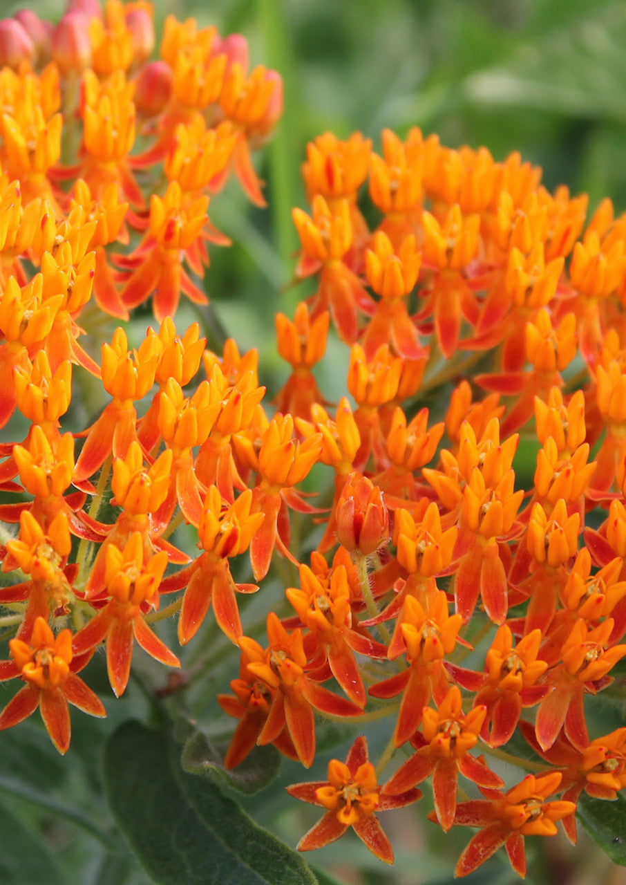
[[(11, 14), (19, 5), (23, 4), (3, 4), (3, 14)], [(35, 0), (33, 8), (42, 17), (56, 19), (62, 4)], [(233, 238), (233, 247), (211, 250), (206, 277), (211, 311), (242, 348), (259, 348), (263, 382), (274, 389), (288, 370), (275, 352), (273, 314), (283, 310), (291, 315), (294, 304), (308, 291), (287, 286), (297, 248), (291, 208), (304, 206), (300, 165), (305, 145), (325, 130), (347, 136), (360, 129), (378, 148), (381, 128), (404, 135), (409, 127), (419, 126), (424, 134), (437, 132), (449, 146), (484, 144), (497, 159), (519, 150), (524, 159), (543, 167), (548, 188), (562, 182), (575, 194), (588, 192), (592, 207), (610, 196), (617, 212), (626, 209), (624, 2), (220, 0), (206, 4), (186, 0), (165, 4), (156, 0), (159, 33), (168, 12), (215, 24), (222, 35), (240, 32), (248, 39), (252, 64), (276, 68), (285, 80), (284, 117), (255, 160), (267, 181), (268, 208), (250, 206), (236, 181), (214, 198), (210, 217)], [(147, 316), (141, 319), (144, 330)], [(192, 319), (194, 311), (187, 304), (180, 326)], [(333, 358), (329, 363), (335, 365)], [(332, 383), (329, 377), (327, 386), (322, 384), (328, 396), (334, 396)], [(224, 688), (222, 681), (218, 690)], [(12, 798), (0, 805), (0, 829), (3, 834), (11, 831), (15, 850), (0, 852), (0, 885), (44, 885), (24, 878), (29, 875), (25, 858), (37, 867), (39, 849), (32, 835), (41, 835), (42, 827), (47, 827), (47, 851), (54, 853), (62, 870), (50, 881), (145, 885), (141, 872), (125, 866), (127, 858), (112, 861), (107, 846), (80, 835), (66, 813), (78, 804), (79, 814), (107, 823), (98, 781), (98, 743), (104, 729), (108, 734), (119, 720), (141, 712), (138, 704), (137, 690), (129, 690), (118, 704), (107, 704), (111, 718), (104, 727), (86, 717), (73, 717), (70, 767), (50, 749), (39, 723), (28, 723), (19, 734), (3, 737), (0, 791), (4, 799)], [(48, 773), (43, 781), (42, 763)], [(35, 797), (45, 794), (51, 803), (59, 803), (57, 819), (34, 811), (33, 797), (11, 794), (10, 775), (32, 781)], [(508, 780), (513, 778), (515, 774), (508, 772)], [(302, 771), (292, 767), (281, 782), (299, 779)], [(285, 810), (282, 793), (275, 805), (263, 806), (263, 816), (279, 805)], [(309, 811), (294, 810), (290, 804), (279, 824), (289, 843), (294, 844), (302, 826), (315, 819)], [(451, 881), (455, 858), (469, 833), (444, 837), (428, 825), (416, 834), (414, 819), (423, 814), (417, 806), (401, 812), (395, 823), (390, 821), (397, 854), (393, 871), (381, 870), (383, 865), (356, 839), (331, 846), (319, 862), (331, 864), (344, 885), (444, 885)], [(584, 833), (577, 850), (562, 837), (538, 842), (529, 845), (527, 881), (626, 882), (626, 871), (612, 866)], [(43, 858), (42, 863), (47, 862)], [(502, 856), (468, 881), (504, 885), (517, 880)]]

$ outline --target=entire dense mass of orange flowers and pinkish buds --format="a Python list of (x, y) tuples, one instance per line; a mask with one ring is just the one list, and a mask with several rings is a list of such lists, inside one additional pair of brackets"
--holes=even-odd
[[(478, 830), (456, 873), (504, 846), (523, 875), (524, 836), (562, 820), (575, 841), (581, 793), (626, 785), (626, 729), (590, 735), (585, 709), (626, 656), (626, 216), (605, 201), (586, 220), (584, 196), (550, 193), (516, 154), (418, 129), (386, 130), (380, 155), (358, 133), (320, 136), (302, 166), (309, 213), (294, 209), (295, 273), (317, 288), (276, 318), (292, 372), (272, 412), (256, 351), (213, 353), (174, 314), (181, 292), (206, 303), (193, 276), (207, 243), (227, 242), (207, 210), (229, 172), (264, 202), (250, 151), (279, 119), (279, 75), (248, 73), (240, 35), (192, 19), (169, 17), (150, 60), (149, 4), (89, 10), (28, 33), (6, 19), (0, 44), (0, 427), (27, 427), (0, 447), (15, 573), (0, 680), (25, 683), (0, 729), (39, 707), (65, 752), (68, 702), (104, 714), (76, 674), (98, 647), (119, 696), (135, 640), (180, 666), (150, 625), (179, 612), (185, 646), (212, 608), (240, 652), (218, 696), (239, 720), (226, 767), (269, 743), (311, 766), (317, 714), (390, 718), (378, 768), (360, 736), (327, 781), (289, 788), (325, 809), (302, 850), (354, 827), (391, 862), (375, 812), (431, 778), (431, 820)], [(135, 346), (121, 326), (99, 360), (81, 346), (94, 318), (149, 298), (157, 323)], [(314, 371), (331, 320), (350, 397), (332, 408)], [(85, 414), (79, 373), (103, 410), (68, 427), (71, 405)], [(317, 501), (302, 489), (314, 467), (330, 486)], [(181, 523), (196, 550), (172, 542)], [(265, 581), (279, 558), (283, 620)], [(247, 577), (267, 644), (242, 625)], [(505, 789), (485, 755), (518, 731), (546, 767)], [(457, 801), (459, 775), (483, 798)]]

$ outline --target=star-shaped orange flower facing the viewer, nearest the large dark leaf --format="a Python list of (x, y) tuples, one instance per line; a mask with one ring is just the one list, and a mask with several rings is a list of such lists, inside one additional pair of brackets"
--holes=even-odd
[(357, 737), (348, 750), (345, 763), (331, 759), (327, 781), (296, 783), (286, 790), (302, 802), (326, 809), (322, 820), (302, 836), (299, 851), (322, 848), (344, 835), (348, 827), (353, 827), (367, 848), (386, 864), (393, 864), (393, 849), (374, 812), (402, 808), (422, 796), (418, 789), (410, 789), (400, 796), (381, 793), (363, 735)]

